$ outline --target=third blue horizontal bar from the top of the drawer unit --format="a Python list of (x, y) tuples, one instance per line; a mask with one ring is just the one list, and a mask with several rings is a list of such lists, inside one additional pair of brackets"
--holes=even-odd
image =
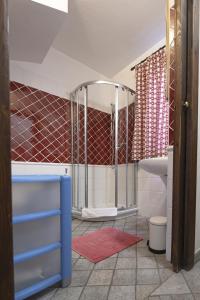
[(43, 247), (31, 250), (31, 251), (16, 254), (14, 256), (14, 263), (18, 264), (23, 261), (29, 260), (33, 257), (49, 253), (49, 252), (54, 251), (59, 248), (61, 248), (61, 243), (57, 242), (57, 243), (52, 243), (47, 246), (43, 246)]

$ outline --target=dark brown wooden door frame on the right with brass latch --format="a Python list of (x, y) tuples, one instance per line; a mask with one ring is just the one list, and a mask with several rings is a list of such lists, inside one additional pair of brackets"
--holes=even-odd
[(194, 265), (198, 128), (199, 0), (176, 0), (172, 264)]

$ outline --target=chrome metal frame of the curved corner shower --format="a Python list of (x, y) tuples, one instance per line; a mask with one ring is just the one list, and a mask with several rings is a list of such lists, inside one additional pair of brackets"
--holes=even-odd
[[(90, 85), (111, 85), (115, 87), (115, 207), (118, 207), (118, 151), (120, 149), (119, 140), (118, 140), (118, 118), (119, 118), (119, 88), (123, 91), (127, 91), (126, 97), (126, 209), (121, 210), (118, 208), (118, 216), (126, 216), (130, 213), (137, 211), (137, 208), (128, 208), (128, 105), (129, 105), (129, 95), (134, 95), (135, 91), (124, 84), (120, 84), (112, 81), (105, 80), (94, 80), (88, 81), (80, 84), (72, 93), (70, 94), (71, 98), (71, 121), (72, 121), (72, 184), (74, 185), (74, 102), (79, 91), (83, 91), (84, 98), (84, 155), (85, 155), (85, 207), (88, 208), (88, 157), (87, 157), (87, 108), (88, 108), (88, 86)], [(79, 96), (79, 95), (78, 95)], [(77, 98), (77, 132), (79, 132), (79, 105), (80, 99)], [(77, 145), (79, 148), (79, 143)], [(79, 179), (79, 149), (77, 148), (78, 155), (78, 164), (77, 164), (77, 184), (80, 184)], [(135, 176), (134, 176), (135, 177)], [(135, 179), (136, 180), (136, 179)], [(79, 203), (79, 190), (77, 189), (77, 207), (75, 207), (75, 197), (74, 197), (74, 186), (72, 187), (72, 199), (73, 199), (73, 215), (76, 217), (81, 217), (81, 207)], [(135, 203), (133, 203), (135, 204)]]

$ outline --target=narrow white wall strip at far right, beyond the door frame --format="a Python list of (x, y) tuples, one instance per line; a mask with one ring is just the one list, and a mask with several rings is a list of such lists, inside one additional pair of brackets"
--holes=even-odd
[[(199, 15), (200, 15), (200, 10), (199, 10)], [(199, 33), (200, 33), (200, 30), (199, 30)], [(200, 61), (199, 61), (199, 74), (200, 74)], [(198, 146), (197, 146), (197, 195), (196, 195), (195, 252), (199, 252), (199, 251), (200, 251), (200, 78), (199, 78), (199, 105), (198, 105)]]

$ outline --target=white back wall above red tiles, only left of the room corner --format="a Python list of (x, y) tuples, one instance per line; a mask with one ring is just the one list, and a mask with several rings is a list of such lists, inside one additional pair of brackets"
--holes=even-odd
[[(59, 97), (70, 98), (70, 93), (81, 83), (108, 80), (104, 75), (69, 56), (50, 48), (41, 64), (10, 61), (10, 79), (43, 90)], [(91, 89), (90, 106), (110, 111), (109, 88)]]

